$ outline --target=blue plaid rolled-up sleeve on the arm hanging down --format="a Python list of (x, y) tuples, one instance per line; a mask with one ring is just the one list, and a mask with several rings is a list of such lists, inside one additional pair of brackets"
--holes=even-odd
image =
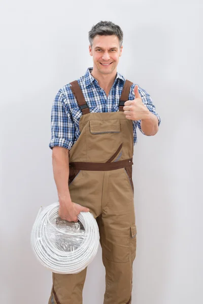
[(71, 149), (75, 138), (75, 125), (66, 103), (62, 90), (56, 94), (51, 110), (51, 141), (49, 147), (54, 146)]

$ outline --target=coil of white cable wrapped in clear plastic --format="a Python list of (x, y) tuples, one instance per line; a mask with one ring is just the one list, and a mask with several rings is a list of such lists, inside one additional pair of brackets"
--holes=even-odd
[[(57, 234), (58, 229), (51, 222), (59, 217), (58, 208), (59, 203), (40, 208), (32, 227), (31, 246), (41, 264), (52, 272), (76, 274), (85, 269), (96, 255), (99, 245), (98, 225), (90, 212), (80, 212), (78, 219), (85, 229), (82, 243), (73, 251), (59, 250), (55, 242), (50, 242), (47, 230), (52, 225)], [(67, 239), (70, 236), (69, 233), (60, 233), (66, 234)], [(73, 237), (73, 233), (71, 235)]]

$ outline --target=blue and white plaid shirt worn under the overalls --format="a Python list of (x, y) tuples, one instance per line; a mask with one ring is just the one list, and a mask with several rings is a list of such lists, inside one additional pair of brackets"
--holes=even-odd
[[(118, 111), (119, 100), (125, 83), (124, 77), (117, 72), (116, 79), (107, 97), (105, 91), (100, 88), (97, 80), (92, 77), (91, 71), (92, 68), (88, 68), (85, 75), (78, 80), (87, 105), (89, 106), (90, 113)], [(136, 84), (131, 86), (128, 100), (135, 98), (135, 86)], [(160, 118), (155, 112), (155, 106), (150, 95), (141, 87), (139, 87), (139, 93), (143, 103), (158, 118), (158, 124), (160, 125)], [(49, 147), (60, 146), (71, 149), (80, 135), (79, 120), (81, 116), (82, 111), (70, 89), (70, 84), (68, 84), (58, 91), (52, 105), (51, 141)], [(134, 144), (136, 144), (137, 127), (139, 127), (143, 134), (144, 132), (141, 129), (141, 121), (133, 121), (132, 124)]]

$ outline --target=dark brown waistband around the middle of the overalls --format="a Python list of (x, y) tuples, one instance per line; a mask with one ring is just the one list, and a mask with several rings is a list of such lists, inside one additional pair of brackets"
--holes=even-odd
[(74, 162), (70, 163), (69, 166), (77, 170), (87, 171), (110, 171), (127, 166), (133, 165), (132, 158), (124, 161), (118, 161), (113, 163), (87, 163), (87, 162)]

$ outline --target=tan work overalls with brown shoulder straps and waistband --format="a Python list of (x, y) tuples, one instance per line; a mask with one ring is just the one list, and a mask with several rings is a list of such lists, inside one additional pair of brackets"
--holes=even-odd
[[(132, 262), (136, 257), (133, 203), (132, 121), (123, 113), (132, 83), (126, 81), (118, 112), (90, 113), (77, 81), (72, 91), (82, 109), (80, 136), (70, 150), (71, 199), (97, 220), (106, 268), (104, 304), (131, 304)], [(53, 273), (49, 304), (82, 304), (86, 269)], [(96, 304), (96, 303), (90, 303)]]

